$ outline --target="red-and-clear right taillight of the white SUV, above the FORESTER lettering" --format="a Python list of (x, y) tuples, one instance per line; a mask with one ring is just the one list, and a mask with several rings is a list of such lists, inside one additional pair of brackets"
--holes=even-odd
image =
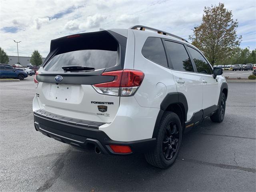
[(94, 84), (94, 89), (100, 94), (114, 96), (132, 96), (141, 85), (144, 73), (137, 70), (118, 70), (104, 72), (101, 75), (115, 76), (111, 82)]

